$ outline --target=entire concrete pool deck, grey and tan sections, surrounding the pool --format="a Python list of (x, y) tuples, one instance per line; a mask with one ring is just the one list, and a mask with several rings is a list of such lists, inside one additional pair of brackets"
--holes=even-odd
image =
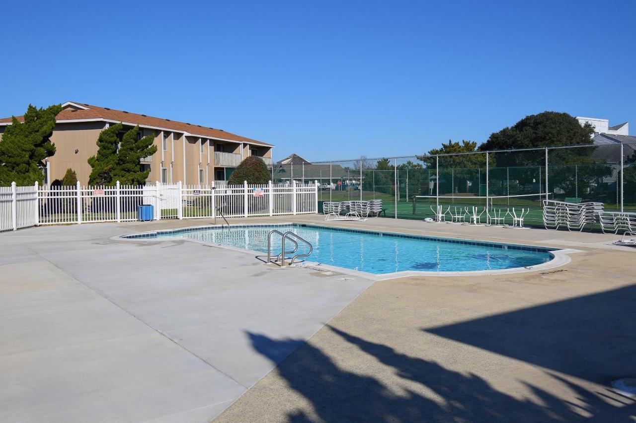
[(234, 222), (580, 252), (549, 271), (374, 283), (188, 241), (111, 239), (210, 219), (3, 232), (0, 420), (633, 421), (636, 403), (609, 389), (636, 376), (636, 250), (615, 235)]

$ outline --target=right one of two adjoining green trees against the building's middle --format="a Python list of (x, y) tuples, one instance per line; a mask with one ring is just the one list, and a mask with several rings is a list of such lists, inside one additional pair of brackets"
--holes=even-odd
[(117, 163), (113, 171), (113, 180), (123, 185), (144, 185), (150, 170), (142, 170), (141, 159), (156, 153), (154, 137), (147, 135), (137, 140), (139, 126), (124, 134), (117, 152)]

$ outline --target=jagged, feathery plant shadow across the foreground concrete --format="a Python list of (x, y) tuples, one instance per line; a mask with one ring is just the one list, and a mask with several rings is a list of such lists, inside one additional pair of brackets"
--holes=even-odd
[[(570, 404), (537, 386), (528, 387), (540, 398), (540, 404), (518, 400), (497, 391), (476, 375), (447, 370), (432, 361), (329, 328), (350, 346), (390, 366), (404, 384), (387, 386), (370, 375), (345, 370), (320, 349), (303, 344), (279, 365), (277, 372), (289, 387), (312, 403), (315, 415), (296, 411), (287, 415), (290, 422), (563, 422), (590, 420), (590, 415), (600, 418), (601, 412), (608, 408), (616, 413), (612, 421), (622, 421), (630, 410), (634, 411), (631, 406), (612, 407), (566, 380), (562, 382), (577, 392), (584, 406)], [(280, 358), (280, 351), (301, 342), (274, 340), (256, 333), (248, 335), (256, 351), (274, 362)], [(355, 369), (355, 364), (349, 368)]]

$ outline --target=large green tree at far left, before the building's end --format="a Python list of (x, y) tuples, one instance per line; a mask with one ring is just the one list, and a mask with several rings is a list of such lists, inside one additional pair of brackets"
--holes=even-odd
[(11, 124), (0, 140), (0, 185), (15, 181), (18, 185), (44, 182), (44, 160), (55, 154), (51, 141), (55, 116), (62, 106), (51, 105), (46, 109), (29, 104), (24, 122), (11, 117)]

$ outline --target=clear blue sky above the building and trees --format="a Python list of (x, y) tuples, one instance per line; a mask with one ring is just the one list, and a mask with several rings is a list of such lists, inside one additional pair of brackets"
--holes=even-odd
[(0, 115), (74, 100), (275, 159), (422, 153), (545, 110), (630, 121), (636, 1), (8, 2)]

